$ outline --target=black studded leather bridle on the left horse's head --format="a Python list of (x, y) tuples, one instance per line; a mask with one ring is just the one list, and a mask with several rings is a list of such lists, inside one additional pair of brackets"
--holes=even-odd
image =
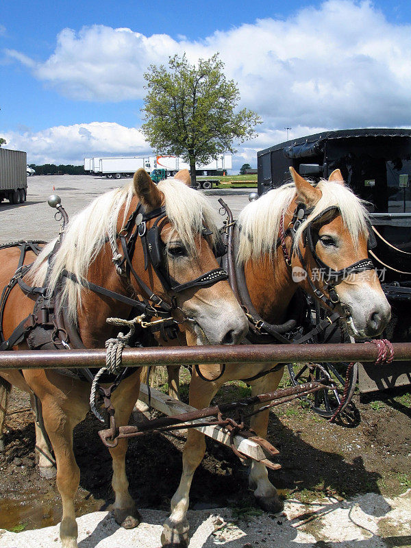
[[(147, 221), (155, 219), (153, 226), (147, 229)], [(161, 221), (161, 223), (160, 223)], [(147, 294), (149, 299), (156, 305), (166, 303), (160, 299), (157, 295), (147, 287), (145, 282), (142, 281), (140, 276), (136, 273), (132, 259), (136, 248), (136, 241), (140, 238), (142, 243), (142, 249), (144, 253), (145, 270), (148, 269), (149, 264), (153, 267), (155, 274), (160, 279), (162, 287), (168, 293), (176, 294), (186, 289), (195, 287), (208, 287), (220, 282), (223, 279), (227, 279), (227, 272), (224, 269), (213, 269), (207, 273), (192, 279), (185, 284), (179, 284), (171, 275), (165, 261), (165, 245), (160, 237), (161, 229), (166, 222), (166, 208), (162, 206), (150, 212), (145, 212), (142, 203), (138, 203), (136, 210), (129, 216), (129, 219), (121, 229), (119, 233), (119, 239), (121, 241), (121, 248), (123, 250), (123, 258), (116, 264), (118, 270), (122, 269), (123, 273), (129, 277), (130, 273), (136, 279), (136, 282)], [(203, 227), (202, 236), (206, 238), (211, 234), (206, 227)], [(160, 302), (161, 301), (161, 302)], [(176, 308), (175, 296), (171, 295), (171, 308)]]

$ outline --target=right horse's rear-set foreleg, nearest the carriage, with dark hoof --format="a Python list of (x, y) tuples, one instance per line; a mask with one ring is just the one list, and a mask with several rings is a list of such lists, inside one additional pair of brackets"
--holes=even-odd
[[(270, 373), (251, 384), (251, 395), (267, 393), (275, 390), (279, 385), (283, 374), (283, 369), (275, 373)], [(269, 410), (262, 411), (251, 417), (251, 430), (256, 432), (261, 438), (265, 438), (269, 426)], [(254, 490), (254, 496), (258, 504), (266, 512), (281, 512), (284, 509), (284, 503), (279, 499), (277, 489), (269, 480), (269, 474), (265, 464), (253, 460), (249, 473), (249, 486)]]

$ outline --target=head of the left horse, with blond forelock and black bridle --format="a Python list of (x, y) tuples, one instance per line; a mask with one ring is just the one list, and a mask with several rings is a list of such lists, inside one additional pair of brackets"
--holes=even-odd
[[(197, 344), (239, 343), (247, 320), (214, 257), (219, 238), (215, 214), (206, 197), (187, 186), (187, 175), (186, 170), (179, 172), (158, 186), (143, 169), (134, 175), (136, 201), (142, 204), (139, 219), (147, 221), (138, 227), (143, 238), (136, 239), (132, 263), (138, 269), (144, 258), (140, 276), (195, 333)], [(135, 278), (132, 284), (138, 293)]]

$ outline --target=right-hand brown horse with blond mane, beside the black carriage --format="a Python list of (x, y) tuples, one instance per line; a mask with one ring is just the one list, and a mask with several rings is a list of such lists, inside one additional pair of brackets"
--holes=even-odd
[[(345, 186), (339, 170), (316, 186), (292, 168), (290, 172), (293, 183), (270, 190), (249, 203), (238, 218), (236, 260), (244, 268), (253, 307), (265, 322), (283, 324), (289, 317), (292, 297), (301, 287), (315, 299), (323, 296), (325, 304), (332, 300), (334, 311), (341, 316), (340, 322), (354, 338), (377, 336), (390, 319), (390, 306), (368, 259), (369, 218), (364, 204)], [(295, 214), (300, 206), (305, 212), (303, 216)], [(312, 247), (307, 245), (305, 237), (308, 228)], [(282, 233), (284, 238), (279, 238)], [(338, 274), (334, 284), (325, 284), (321, 276), (314, 275), (319, 264)], [(293, 279), (293, 269), (299, 272), (303, 269), (306, 277), (300, 277), (300, 281)], [(345, 276), (345, 271), (350, 275)], [(196, 343), (190, 334), (187, 339), (188, 344)], [(232, 364), (221, 375), (223, 366), (201, 365), (203, 377), (218, 380), (205, 382), (194, 370), (190, 405), (207, 408), (225, 382), (250, 379), (273, 366)], [(250, 381), (251, 395), (275, 390), (283, 371), (284, 368)], [(251, 418), (251, 429), (264, 438), (268, 423), (269, 410), (265, 410)], [(186, 512), (190, 485), (205, 450), (204, 435), (189, 429), (182, 478), (171, 501), (171, 516), (164, 524), (163, 545), (188, 543)], [(283, 503), (269, 481), (264, 464), (252, 461), (249, 484), (262, 508), (270, 512), (282, 510)]]

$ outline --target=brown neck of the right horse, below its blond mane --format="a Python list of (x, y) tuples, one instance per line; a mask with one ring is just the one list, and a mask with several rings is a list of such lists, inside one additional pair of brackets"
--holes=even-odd
[(269, 323), (284, 323), (297, 284), (292, 282), (281, 249), (273, 258), (267, 253), (258, 260), (250, 259), (244, 270), (251, 302), (258, 314)]

